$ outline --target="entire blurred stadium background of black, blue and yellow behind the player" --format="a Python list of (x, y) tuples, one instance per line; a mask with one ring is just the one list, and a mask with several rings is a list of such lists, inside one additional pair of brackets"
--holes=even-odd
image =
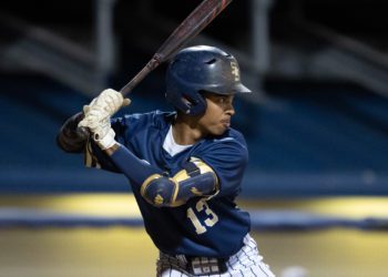
[[(0, 3), (0, 276), (154, 276), (126, 179), (61, 152), (200, 0)], [(235, 0), (192, 44), (234, 54), (249, 147), (239, 206), (282, 277), (387, 276), (388, 2)], [(172, 110), (160, 65), (119, 112)]]

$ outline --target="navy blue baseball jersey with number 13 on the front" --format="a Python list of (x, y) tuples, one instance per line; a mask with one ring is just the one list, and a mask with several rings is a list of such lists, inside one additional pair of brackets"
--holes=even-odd
[[(178, 207), (155, 207), (141, 196), (141, 184), (131, 184), (145, 229), (156, 247), (169, 255), (231, 256), (241, 249), (251, 228), (249, 215), (234, 202), (247, 164), (245, 140), (229, 129), (171, 156), (163, 142), (174, 116), (175, 113), (159, 111), (125, 115), (112, 120), (112, 127), (119, 143), (171, 176), (182, 171), (191, 157), (201, 158), (216, 173), (219, 191), (212, 196), (191, 198)], [(93, 147), (102, 168), (116, 171), (110, 158), (99, 152)]]

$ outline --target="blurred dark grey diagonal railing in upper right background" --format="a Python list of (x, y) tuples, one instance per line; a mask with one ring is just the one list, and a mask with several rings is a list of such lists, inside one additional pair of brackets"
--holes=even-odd
[(273, 47), (273, 74), (346, 80), (388, 96), (387, 53), (314, 22), (297, 19), (293, 23), (306, 39), (318, 39), (321, 44), (307, 53), (289, 45)]

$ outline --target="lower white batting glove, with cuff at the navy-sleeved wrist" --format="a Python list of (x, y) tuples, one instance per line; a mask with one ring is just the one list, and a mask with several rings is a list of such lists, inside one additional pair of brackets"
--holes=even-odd
[(93, 134), (93, 140), (102, 150), (108, 150), (116, 143), (115, 133), (111, 127), (111, 119), (106, 116), (105, 111), (90, 110), (78, 126), (88, 127)]

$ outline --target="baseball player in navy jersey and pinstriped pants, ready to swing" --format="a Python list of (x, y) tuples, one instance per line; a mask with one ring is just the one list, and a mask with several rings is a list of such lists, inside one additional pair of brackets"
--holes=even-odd
[[(160, 249), (156, 276), (274, 276), (235, 198), (248, 151), (231, 127), (237, 61), (214, 47), (181, 50), (166, 72), (175, 112), (111, 116), (130, 100), (105, 90), (62, 126), (59, 146), (88, 166), (124, 174)], [(80, 132), (86, 127), (91, 136)]]

